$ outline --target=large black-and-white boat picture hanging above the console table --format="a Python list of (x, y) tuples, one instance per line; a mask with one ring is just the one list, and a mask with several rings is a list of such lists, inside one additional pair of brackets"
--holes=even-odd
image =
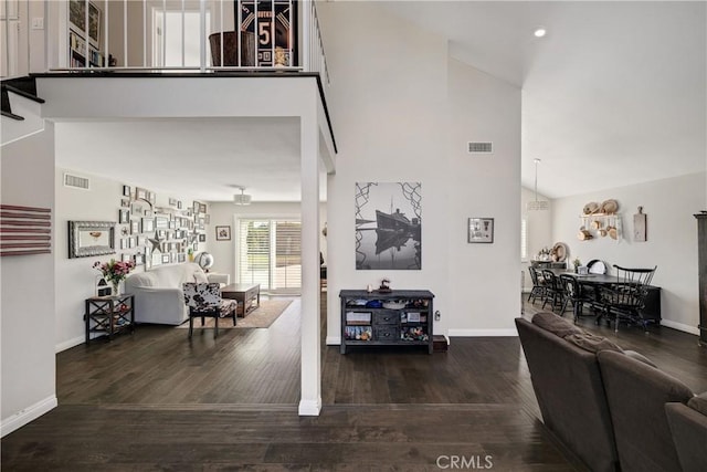
[(422, 269), (422, 185), (356, 183), (356, 269)]

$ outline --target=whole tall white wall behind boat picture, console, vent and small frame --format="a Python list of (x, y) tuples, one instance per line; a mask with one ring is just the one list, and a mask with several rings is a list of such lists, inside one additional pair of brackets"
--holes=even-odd
[[(338, 292), (383, 277), (393, 289), (436, 295), (437, 334), (513, 333), (520, 313), (519, 297), (508, 296), (520, 276), (520, 91), (447, 63), (443, 39), (374, 2), (318, 8), (339, 147), (327, 182), (327, 342), (340, 336)], [(465, 154), (477, 138), (495, 141), (492, 158)], [(361, 181), (422, 182), (422, 270), (356, 270), (354, 189)], [(467, 244), (473, 216), (496, 218), (494, 244)]]

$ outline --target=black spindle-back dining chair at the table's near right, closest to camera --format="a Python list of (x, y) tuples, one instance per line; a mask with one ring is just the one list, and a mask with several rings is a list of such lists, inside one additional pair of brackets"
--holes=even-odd
[(613, 268), (616, 271), (616, 282), (600, 286), (605, 316), (614, 318), (614, 332), (619, 332), (621, 321), (640, 324), (647, 332), (648, 319), (643, 317), (642, 311), (657, 265), (653, 269), (626, 269), (614, 264)]

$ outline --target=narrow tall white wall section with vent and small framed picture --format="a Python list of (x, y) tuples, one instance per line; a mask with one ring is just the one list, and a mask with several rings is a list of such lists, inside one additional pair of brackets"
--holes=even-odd
[[(520, 90), (451, 60), (447, 234), (451, 335), (509, 335), (520, 313)], [(467, 141), (492, 141), (490, 156)], [(432, 162), (433, 164), (433, 162)], [(441, 209), (440, 209), (441, 210)], [(494, 243), (469, 244), (468, 217), (494, 218)]]

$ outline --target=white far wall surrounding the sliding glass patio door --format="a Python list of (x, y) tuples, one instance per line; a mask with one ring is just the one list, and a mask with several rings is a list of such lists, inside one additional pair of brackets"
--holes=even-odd
[[(235, 264), (235, 243), (238, 238), (236, 228), (234, 227), (234, 218), (267, 218), (267, 217), (288, 217), (302, 218), (302, 209), (299, 202), (254, 202), (249, 206), (238, 207), (231, 202), (212, 201), (209, 203), (211, 212), (211, 225), (207, 233), (208, 251), (214, 258), (212, 272), (220, 272), (231, 275), (231, 282), (238, 282), (236, 264)], [(319, 220), (326, 221), (326, 203), (320, 204)], [(215, 227), (231, 227), (231, 241), (217, 241)], [(324, 227), (324, 223), (323, 223)], [(319, 247), (327, 260), (326, 238), (319, 233)]]

